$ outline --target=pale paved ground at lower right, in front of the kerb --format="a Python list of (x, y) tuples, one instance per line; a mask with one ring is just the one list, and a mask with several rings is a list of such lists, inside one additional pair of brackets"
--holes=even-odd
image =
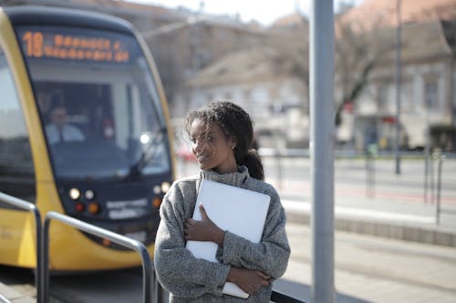
[[(312, 230), (289, 223), (292, 256), (275, 288), (311, 303)], [(456, 247), (335, 231), (337, 303), (454, 303)]]

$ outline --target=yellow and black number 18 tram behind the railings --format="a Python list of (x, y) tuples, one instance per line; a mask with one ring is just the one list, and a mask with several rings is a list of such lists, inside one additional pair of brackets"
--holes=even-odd
[[(0, 191), (143, 242), (153, 252), (173, 180), (161, 82), (126, 21), (0, 8)], [(36, 267), (34, 218), (0, 202), (0, 264)], [(128, 268), (136, 252), (54, 222), (51, 270)]]

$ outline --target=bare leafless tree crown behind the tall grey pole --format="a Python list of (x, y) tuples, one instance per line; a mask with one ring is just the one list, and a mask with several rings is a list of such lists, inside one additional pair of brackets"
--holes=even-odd
[[(344, 9), (344, 12), (347, 8)], [(342, 122), (341, 113), (347, 104), (355, 104), (358, 97), (369, 85), (372, 72), (394, 50), (394, 36), (380, 27), (363, 28), (342, 21), (338, 15), (335, 24), (335, 73), (336, 86), (341, 92), (337, 97), (335, 123)], [(309, 34), (308, 20), (301, 16), (301, 24), (294, 28), (275, 31), (271, 35), (270, 45), (280, 54), (277, 56), (277, 68), (287, 68), (291, 76), (302, 79), (308, 87), (309, 82)]]

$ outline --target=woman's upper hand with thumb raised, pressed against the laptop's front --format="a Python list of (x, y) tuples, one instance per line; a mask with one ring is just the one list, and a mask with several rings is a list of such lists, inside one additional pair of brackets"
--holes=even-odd
[(212, 241), (223, 247), (223, 238), (225, 233), (222, 229), (217, 227), (206, 214), (206, 210), (200, 204), (200, 211), (202, 220), (197, 221), (188, 218), (184, 223), (184, 233), (186, 240), (193, 241)]

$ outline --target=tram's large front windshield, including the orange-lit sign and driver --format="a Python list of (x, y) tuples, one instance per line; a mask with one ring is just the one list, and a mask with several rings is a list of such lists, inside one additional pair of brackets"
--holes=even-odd
[(57, 178), (169, 171), (160, 98), (133, 35), (57, 26), (16, 30)]

